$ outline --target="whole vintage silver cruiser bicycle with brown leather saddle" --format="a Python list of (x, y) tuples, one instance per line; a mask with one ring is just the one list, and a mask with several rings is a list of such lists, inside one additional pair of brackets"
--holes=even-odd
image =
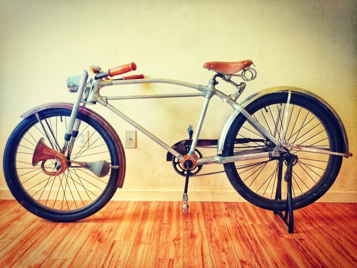
[[(3, 168), (12, 194), (33, 214), (63, 222), (88, 217), (110, 201), (116, 188), (123, 186), (126, 160), (114, 128), (87, 108), (99, 103), (167, 150), (166, 160), (186, 177), (183, 212), (188, 211), (189, 178), (202, 175), (204, 165), (223, 164), (221, 172), (226, 172), (229, 182), (244, 199), (278, 213), (292, 232), (292, 211), (324, 195), (339, 173), (342, 157), (352, 154), (337, 113), (307, 90), (269, 88), (237, 102), (245, 82), (257, 76), (252, 65), (251, 60), (205, 63), (203, 67), (214, 71), (207, 85), (144, 79), (142, 74), (113, 79), (136, 70), (134, 63), (105, 72), (91, 66), (81, 75), (67, 78), (69, 91), (77, 93), (74, 104), (49, 103), (33, 108), (21, 116), (24, 119), (9, 137)], [(236, 78), (243, 82), (233, 82)], [(219, 82), (232, 84), (234, 92), (226, 95), (217, 90)], [(198, 92), (100, 95), (105, 86), (144, 83), (175, 84)], [(204, 101), (195, 131), (190, 126), (189, 139), (173, 146), (110, 104), (112, 100), (180, 97), (203, 97)], [(233, 111), (217, 139), (200, 139), (210, 100), (217, 97)], [(83, 142), (85, 135), (89, 142)], [(216, 148), (216, 154), (204, 157), (200, 147)]]

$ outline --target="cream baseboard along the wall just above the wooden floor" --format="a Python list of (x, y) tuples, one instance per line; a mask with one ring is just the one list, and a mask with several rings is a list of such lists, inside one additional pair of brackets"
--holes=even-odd
[[(7, 188), (0, 188), (0, 200), (14, 199)], [(181, 201), (181, 189), (117, 189), (113, 201)], [(190, 189), (190, 201), (244, 202), (233, 189)], [(357, 203), (357, 190), (330, 190), (318, 202)]]

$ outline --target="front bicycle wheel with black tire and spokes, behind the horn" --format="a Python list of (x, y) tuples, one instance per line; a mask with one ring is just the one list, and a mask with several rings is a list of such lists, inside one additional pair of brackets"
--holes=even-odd
[[(51, 143), (59, 151), (71, 110), (55, 108), (38, 114), (50, 141), (34, 115), (23, 119), (7, 141), (3, 168), (11, 193), (28, 211), (52, 221), (75, 221), (93, 215), (113, 197), (117, 188), (118, 169), (111, 168), (107, 176), (99, 178), (88, 169), (76, 168), (73, 164), (58, 176), (44, 174), (41, 162), (32, 167), (33, 151), (40, 137), (45, 139), (48, 146)], [(88, 135), (84, 138), (89, 143), (82, 146), (75, 141), (71, 160), (106, 160), (112, 166), (117, 166), (119, 161), (115, 145), (105, 129), (86, 115), (79, 113), (77, 118), (81, 120), (77, 140), (84, 134)], [(58, 145), (55, 142), (57, 137)], [(55, 170), (54, 161), (48, 160), (45, 167), (48, 171)]]

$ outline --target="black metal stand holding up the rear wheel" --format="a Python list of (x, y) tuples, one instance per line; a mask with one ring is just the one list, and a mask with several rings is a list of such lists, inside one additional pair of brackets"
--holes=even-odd
[[(292, 209), (292, 166), (297, 163), (297, 157), (293, 154), (290, 154), (286, 158), (287, 170), (285, 171), (284, 181), (287, 182), (287, 196), (286, 196), (286, 211), (285, 214), (281, 211), (274, 211), (274, 214), (280, 216), (280, 218), (288, 226), (289, 234), (294, 233), (294, 215)], [(278, 178), (277, 178), (277, 187), (276, 187), (276, 200), (281, 200), (281, 173), (282, 173), (282, 160), (279, 160), (278, 163)], [(288, 220), (289, 218), (289, 220)]]

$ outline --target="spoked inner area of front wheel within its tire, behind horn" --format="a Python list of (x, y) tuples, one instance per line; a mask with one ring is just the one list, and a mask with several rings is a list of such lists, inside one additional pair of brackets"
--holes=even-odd
[[(44, 174), (40, 167), (41, 162), (35, 167), (32, 166), (33, 151), (40, 137), (45, 138), (49, 147), (59, 151), (69, 115), (67, 112), (62, 115), (41, 117), (45, 130), (34, 119), (17, 139), (14, 151), (15, 175), (22, 193), (39, 208), (61, 214), (76, 213), (94, 205), (106, 192), (113, 178), (113, 169), (107, 176), (99, 178), (88, 169), (76, 168), (73, 165), (58, 176)], [(93, 127), (93, 122), (87, 121), (84, 117), (81, 120), (80, 132), (74, 141), (71, 160), (78, 162), (106, 160), (113, 165), (113, 156), (102, 136), (103, 133), (96, 129), (96, 126)], [(85, 136), (83, 137), (82, 134)], [(89, 142), (83, 144), (80, 139)], [(48, 160), (45, 168), (54, 171), (54, 164), (54, 160)]]

